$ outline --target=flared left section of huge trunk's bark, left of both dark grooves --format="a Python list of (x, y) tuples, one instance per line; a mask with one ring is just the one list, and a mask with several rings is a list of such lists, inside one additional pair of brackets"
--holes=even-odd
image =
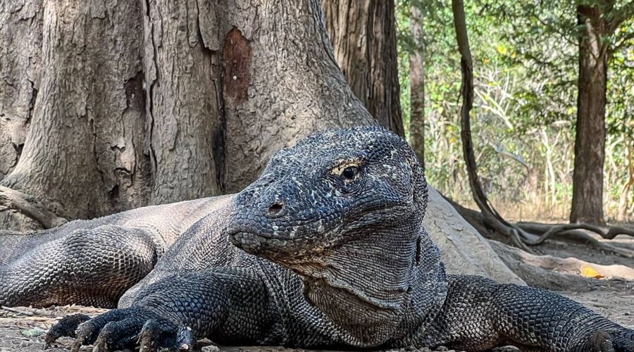
[[(144, 205), (147, 158), (135, 149), (144, 124), (140, 8), (132, 1), (30, 6), (43, 13), (33, 30), (42, 33), (35, 106), (21, 113), (31, 120), (29, 133), (1, 185), (46, 201), (63, 218)], [(13, 16), (6, 20), (11, 33)], [(28, 73), (17, 71), (13, 79), (24, 82)]]

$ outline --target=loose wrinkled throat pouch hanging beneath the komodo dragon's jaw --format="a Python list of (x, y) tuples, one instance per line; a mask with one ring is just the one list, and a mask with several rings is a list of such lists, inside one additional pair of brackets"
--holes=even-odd
[(388, 341), (412, 306), (412, 292), (423, 289), (416, 258), (424, 232), (412, 220), (354, 236), (294, 268), (306, 299), (344, 329), (349, 343)]

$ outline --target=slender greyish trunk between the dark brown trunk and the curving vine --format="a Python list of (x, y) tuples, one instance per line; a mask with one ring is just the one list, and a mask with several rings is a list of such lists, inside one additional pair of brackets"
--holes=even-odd
[(422, 38), (423, 18), (418, 6), (411, 6), (409, 27), (416, 44), (414, 53), (409, 56), (409, 144), (425, 168), (425, 62), (423, 61)]

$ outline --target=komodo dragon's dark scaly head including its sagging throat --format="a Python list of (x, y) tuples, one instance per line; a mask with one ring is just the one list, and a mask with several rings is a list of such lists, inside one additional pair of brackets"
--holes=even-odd
[(402, 138), (375, 126), (327, 130), (273, 155), (235, 197), (228, 233), (297, 272), (306, 299), (351, 343), (375, 346), (392, 337), (413, 286), (444, 282), (421, 224), (427, 198)]

